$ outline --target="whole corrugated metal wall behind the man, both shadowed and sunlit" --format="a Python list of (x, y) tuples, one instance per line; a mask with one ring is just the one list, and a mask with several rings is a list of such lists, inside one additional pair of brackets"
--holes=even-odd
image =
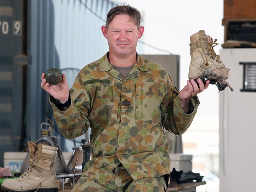
[[(105, 22), (99, 17), (105, 19), (114, 6), (116, 3), (109, 0), (28, 1), (28, 140), (39, 137), (41, 122), (52, 118), (48, 96), (40, 86), (41, 73), (52, 67), (81, 69), (102, 57), (108, 51), (108, 43), (100, 30)], [(139, 50), (143, 48), (138, 46)], [(58, 135), (57, 128), (54, 134)], [(70, 150), (64, 146), (66, 142), (62, 138), (61, 147)]]

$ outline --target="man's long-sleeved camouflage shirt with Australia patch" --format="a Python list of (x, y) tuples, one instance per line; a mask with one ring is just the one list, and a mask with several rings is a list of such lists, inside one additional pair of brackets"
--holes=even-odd
[(195, 116), (198, 98), (191, 99), (190, 114), (186, 114), (163, 67), (137, 54), (124, 78), (107, 54), (78, 73), (66, 111), (51, 103), (61, 133), (72, 139), (91, 127), (93, 158), (85, 164), (83, 175), (100, 183), (108, 184), (120, 162), (134, 180), (169, 174), (163, 129), (184, 133)]

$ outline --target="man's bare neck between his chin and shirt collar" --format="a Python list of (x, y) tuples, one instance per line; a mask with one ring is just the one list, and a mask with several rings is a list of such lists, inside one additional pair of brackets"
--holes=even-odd
[(114, 55), (109, 52), (108, 55), (109, 62), (112, 65), (116, 66), (131, 66), (134, 65), (134, 63), (137, 60), (136, 52), (132, 55)]

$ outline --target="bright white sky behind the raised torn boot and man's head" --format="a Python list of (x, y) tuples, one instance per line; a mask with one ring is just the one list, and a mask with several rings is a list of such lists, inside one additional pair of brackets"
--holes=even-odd
[[(180, 55), (180, 89), (186, 85), (188, 78), (189, 37), (192, 34), (198, 30), (204, 30), (213, 39), (218, 39), (217, 42), (220, 44), (215, 46), (215, 52), (219, 54), (224, 39), (224, 27), (221, 24), (223, 0), (126, 0), (124, 2), (141, 11), (145, 27), (144, 42)], [(145, 46), (144, 52), (139, 54), (166, 53)], [(228, 66), (228, 64), (225, 65)], [(210, 85), (198, 97), (200, 107), (195, 122), (201, 121), (200, 116), (211, 116), (214, 118), (212, 126), (218, 127), (219, 93), (217, 87)]]

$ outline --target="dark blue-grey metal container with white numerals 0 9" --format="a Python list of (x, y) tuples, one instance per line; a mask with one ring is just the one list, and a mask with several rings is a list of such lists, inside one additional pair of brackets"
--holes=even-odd
[(24, 132), (27, 58), (23, 6), (24, 1), (0, 0), (0, 167), (4, 152), (20, 150)]

